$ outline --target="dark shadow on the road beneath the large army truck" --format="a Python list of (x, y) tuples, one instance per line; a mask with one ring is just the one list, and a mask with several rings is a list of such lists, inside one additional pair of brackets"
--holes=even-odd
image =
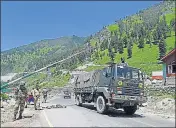
[[(90, 104), (83, 104), (82, 107), (96, 111), (96, 108)], [(145, 117), (139, 114), (126, 115), (123, 110), (118, 110), (113, 108), (109, 108), (109, 111), (106, 113), (106, 115), (109, 117), (124, 117), (124, 118), (144, 118)]]

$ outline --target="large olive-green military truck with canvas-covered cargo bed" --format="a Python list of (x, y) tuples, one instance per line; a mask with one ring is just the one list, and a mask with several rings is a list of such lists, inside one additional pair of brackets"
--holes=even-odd
[(98, 113), (106, 113), (109, 107), (123, 108), (133, 115), (139, 104), (145, 103), (143, 73), (138, 68), (110, 63), (96, 70), (75, 77), (75, 103), (94, 103)]

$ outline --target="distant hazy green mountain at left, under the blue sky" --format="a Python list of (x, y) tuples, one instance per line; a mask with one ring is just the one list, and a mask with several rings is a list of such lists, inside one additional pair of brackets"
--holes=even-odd
[(56, 62), (83, 46), (86, 37), (46, 39), (1, 52), (1, 75), (33, 71)]

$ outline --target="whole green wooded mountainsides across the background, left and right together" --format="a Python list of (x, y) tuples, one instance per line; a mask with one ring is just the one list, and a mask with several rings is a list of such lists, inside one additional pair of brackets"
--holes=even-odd
[[(142, 68), (150, 75), (152, 71), (161, 70), (160, 58), (175, 47), (175, 28), (175, 3), (162, 2), (104, 26), (87, 38), (61, 37), (4, 51), (1, 53), (1, 75), (42, 68), (80, 51), (85, 43), (94, 47), (92, 54), (80, 54), (51, 68), (51, 77), (46, 72), (31, 76), (27, 79), (29, 85), (63, 86), (70, 76), (61, 75), (60, 70), (74, 69), (88, 57), (99, 65), (108, 61), (120, 62), (124, 57), (129, 65)], [(102, 66), (86, 70), (97, 68)]]

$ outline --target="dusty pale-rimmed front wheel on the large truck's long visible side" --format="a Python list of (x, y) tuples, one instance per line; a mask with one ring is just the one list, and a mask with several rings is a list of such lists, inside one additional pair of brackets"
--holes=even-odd
[(98, 113), (104, 114), (108, 110), (105, 99), (102, 96), (98, 96), (96, 101), (96, 109)]

